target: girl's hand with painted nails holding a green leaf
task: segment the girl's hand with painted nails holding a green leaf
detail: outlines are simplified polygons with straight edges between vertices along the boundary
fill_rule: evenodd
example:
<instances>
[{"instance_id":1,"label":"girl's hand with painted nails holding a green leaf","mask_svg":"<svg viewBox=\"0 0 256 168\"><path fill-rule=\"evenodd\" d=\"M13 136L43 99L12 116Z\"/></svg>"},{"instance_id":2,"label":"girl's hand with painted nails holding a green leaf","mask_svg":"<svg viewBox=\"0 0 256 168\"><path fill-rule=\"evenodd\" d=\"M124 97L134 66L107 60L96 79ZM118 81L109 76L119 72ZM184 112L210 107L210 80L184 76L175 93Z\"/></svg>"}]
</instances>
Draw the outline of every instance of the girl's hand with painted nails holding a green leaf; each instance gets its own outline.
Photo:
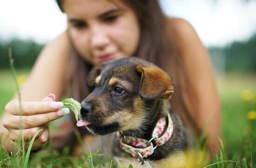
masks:
<instances>
[{"instance_id":1,"label":"girl's hand with painted nails holding a green leaf","mask_svg":"<svg viewBox=\"0 0 256 168\"><path fill-rule=\"evenodd\" d=\"M68 108L61 109L62 106L63 103L56 102L55 95L51 93L40 102L21 101L22 116L20 116L19 100L12 100L5 106L3 126L9 131L12 141L18 140L21 129L21 136L26 140L26 148L29 145L28 140L42 129L32 147L32 150L39 149L49 139L48 122L61 118L69 112Z\"/></svg>"}]
</instances>

